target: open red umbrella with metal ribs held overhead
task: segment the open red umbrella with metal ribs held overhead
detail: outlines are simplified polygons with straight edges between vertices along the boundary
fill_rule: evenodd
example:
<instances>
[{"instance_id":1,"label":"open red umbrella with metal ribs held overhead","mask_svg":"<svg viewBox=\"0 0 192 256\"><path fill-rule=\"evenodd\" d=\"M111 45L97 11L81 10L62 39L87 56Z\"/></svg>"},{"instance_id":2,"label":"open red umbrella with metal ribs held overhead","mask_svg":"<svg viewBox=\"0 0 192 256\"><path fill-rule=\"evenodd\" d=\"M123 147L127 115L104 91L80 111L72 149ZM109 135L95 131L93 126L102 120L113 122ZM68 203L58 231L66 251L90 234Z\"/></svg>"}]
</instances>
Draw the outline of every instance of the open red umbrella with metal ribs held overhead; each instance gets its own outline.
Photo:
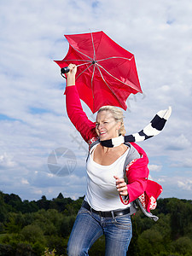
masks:
<instances>
[{"instance_id":1,"label":"open red umbrella with metal ribs held overhead","mask_svg":"<svg viewBox=\"0 0 192 256\"><path fill-rule=\"evenodd\" d=\"M61 68L78 66L76 86L80 99L95 113L105 105L126 109L125 101L141 92L134 55L104 32L65 35L66 57L55 61Z\"/></svg>"}]
</instances>

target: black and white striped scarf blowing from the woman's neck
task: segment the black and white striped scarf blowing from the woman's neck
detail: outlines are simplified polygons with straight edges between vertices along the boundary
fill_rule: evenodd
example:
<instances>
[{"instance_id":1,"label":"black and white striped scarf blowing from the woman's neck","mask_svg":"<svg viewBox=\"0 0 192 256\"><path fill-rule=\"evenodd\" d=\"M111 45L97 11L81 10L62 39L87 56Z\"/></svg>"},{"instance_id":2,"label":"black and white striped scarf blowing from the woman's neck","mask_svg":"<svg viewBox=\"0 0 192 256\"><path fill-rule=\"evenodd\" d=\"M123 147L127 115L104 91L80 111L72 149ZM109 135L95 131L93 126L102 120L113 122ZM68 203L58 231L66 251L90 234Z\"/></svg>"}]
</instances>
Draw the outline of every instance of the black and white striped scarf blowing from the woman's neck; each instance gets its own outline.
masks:
<instances>
[{"instance_id":1,"label":"black and white striped scarf blowing from the woman's neck","mask_svg":"<svg viewBox=\"0 0 192 256\"><path fill-rule=\"evenodd\" d=\"M118 147L123 143L139 143L147 140L150 137L158 135L166 125L166 121L169 119L172 113L172 108L169 107L166 110L160 110L154 116L154 119L142 130L131 135L114 137L110 140L100 141L103 147L113 148Z\"/></svg>"}]
</instances>

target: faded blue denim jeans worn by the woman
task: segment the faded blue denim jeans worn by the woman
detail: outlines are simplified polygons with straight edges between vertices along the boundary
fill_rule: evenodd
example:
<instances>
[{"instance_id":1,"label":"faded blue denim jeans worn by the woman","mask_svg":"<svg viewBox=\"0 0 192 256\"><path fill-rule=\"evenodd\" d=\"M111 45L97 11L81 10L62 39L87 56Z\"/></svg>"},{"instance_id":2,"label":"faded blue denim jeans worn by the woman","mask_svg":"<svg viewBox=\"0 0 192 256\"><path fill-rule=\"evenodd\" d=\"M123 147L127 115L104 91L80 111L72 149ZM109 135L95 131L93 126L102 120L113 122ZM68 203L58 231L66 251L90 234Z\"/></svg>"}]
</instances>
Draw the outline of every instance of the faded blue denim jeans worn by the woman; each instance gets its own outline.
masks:
<instances>
[{"instance_id":1,"label":"faded blue denim jeans worn by the woman","mask_svg":"<svg viewBox=\"0 0 192 256\"><path fill-rule=\"evenodd\" d=\"M69 237L69 256L89 255L93 243L105 235L105 256L125 256L132 237L131 216L103 218L81 207Z\"/></svg>"}]
</instances>

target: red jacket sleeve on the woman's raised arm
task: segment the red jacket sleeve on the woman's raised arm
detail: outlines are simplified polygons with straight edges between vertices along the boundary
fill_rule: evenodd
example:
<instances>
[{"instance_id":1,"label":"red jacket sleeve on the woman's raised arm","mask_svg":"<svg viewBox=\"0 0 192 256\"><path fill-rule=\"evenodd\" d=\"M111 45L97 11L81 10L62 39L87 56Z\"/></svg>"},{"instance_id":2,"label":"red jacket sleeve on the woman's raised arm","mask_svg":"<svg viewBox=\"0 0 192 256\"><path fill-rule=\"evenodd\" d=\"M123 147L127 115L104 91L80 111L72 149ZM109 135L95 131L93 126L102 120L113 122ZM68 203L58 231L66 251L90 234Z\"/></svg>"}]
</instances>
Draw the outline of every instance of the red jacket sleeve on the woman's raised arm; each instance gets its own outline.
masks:
<instances>
[{"instance_id":1,"label":"red jacket sleeve on the woman's raised arm","mask_svg":"<svg viewBox=\"0 0 192 256\"><path fill-rule=\"evenodd\" d=\"M91 138L97 137L96 123L91 122L84 113L79 99L79 93L75 85L67 86L65 95L67 115L84 138L84 141L88 143Z\"/></svg>"}]
</instances>

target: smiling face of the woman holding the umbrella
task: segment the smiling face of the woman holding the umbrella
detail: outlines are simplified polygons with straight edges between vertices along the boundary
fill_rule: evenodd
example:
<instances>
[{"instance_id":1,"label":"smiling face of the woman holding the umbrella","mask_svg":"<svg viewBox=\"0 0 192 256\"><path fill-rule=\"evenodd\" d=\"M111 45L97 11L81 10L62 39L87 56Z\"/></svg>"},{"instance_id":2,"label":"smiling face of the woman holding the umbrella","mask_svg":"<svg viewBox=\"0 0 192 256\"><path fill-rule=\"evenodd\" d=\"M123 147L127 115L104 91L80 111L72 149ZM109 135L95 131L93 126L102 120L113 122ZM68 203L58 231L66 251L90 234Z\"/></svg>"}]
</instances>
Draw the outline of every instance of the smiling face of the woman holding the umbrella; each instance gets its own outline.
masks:
<instances>
[{"instance_id":1,"label":"smiling face of the woman holding the umbrella","mask_svg":"<svg viewBox=\"0 0 192 256\"><path fill-rule=\"evenodd\" d=\"M119 137L120 123L117 123L110 111L102 111L96 116L96 133L101 141Z\"/></svg>"}]
</instances>

